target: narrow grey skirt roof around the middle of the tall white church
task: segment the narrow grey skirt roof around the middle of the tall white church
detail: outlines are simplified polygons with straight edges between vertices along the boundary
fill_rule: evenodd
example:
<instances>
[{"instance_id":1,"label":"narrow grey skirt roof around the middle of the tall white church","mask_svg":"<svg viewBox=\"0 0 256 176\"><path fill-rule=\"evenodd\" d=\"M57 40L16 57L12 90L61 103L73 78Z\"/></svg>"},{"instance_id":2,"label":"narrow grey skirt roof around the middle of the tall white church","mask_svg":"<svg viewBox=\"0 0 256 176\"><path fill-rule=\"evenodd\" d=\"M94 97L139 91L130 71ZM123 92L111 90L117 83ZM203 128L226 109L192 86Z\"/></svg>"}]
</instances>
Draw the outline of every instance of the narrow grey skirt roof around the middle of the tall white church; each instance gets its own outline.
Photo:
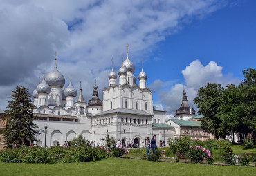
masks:
<instances>
[{"instance_id":1,"label":"narrow grey skirt roof around the middle of the tall white church","mask_svg":"<svg viewBox=\"0 0 256 176\"><path fill-rule=\"evenodd\" d=\"M127 109L127 108L117 108L117 109L112 109L112 110L107 110L102 113L98 113L96 115L91 115L93 117L98 116L98 115L107 115L111 113L126 113L126 114L133 114L133 115L148 115L152 116L152 114L147 113L144 110L135 110L135 109Z\"/></svg>"}]
</instances>

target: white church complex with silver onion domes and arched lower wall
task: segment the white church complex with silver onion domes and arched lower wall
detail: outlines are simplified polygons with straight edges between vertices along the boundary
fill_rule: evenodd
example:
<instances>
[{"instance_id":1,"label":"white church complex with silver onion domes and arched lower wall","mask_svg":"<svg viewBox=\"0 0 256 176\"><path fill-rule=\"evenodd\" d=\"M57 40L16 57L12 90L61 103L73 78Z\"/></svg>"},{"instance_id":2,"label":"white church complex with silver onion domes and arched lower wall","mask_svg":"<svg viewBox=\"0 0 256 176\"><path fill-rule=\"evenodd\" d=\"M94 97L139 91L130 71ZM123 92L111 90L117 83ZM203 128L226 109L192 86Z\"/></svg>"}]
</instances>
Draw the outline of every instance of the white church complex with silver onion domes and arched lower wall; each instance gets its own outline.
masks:
<instances>
[{"instance_id":1,"label":"white church complex with silver onion domes and arched lower wall","mask_svg":"<svg viewBox=\"0 0 256 176\"><path fill-rule=\"evenodd\" d=\"M70 84L64 88L65 78L57 69L56 57L53 70L44 77L33 91L33 113L39 126L38 146L54 146L82 135L87 140L100 142L107 134L122 145L145 146L145 139L156 135L159 142L174 137L175 130L165 123L165 111L154 110L152 90L147 88L147 75L143 68L134 76L134 63L128 57L122 62L118 75L109 73L109 86L103 90L103 101L98 97L98 86L86 103L82 87L77 90ZM107 77L107 75L106 75ZM167 144L167 142L165 142Z\"/></svg>"}]
</instances>

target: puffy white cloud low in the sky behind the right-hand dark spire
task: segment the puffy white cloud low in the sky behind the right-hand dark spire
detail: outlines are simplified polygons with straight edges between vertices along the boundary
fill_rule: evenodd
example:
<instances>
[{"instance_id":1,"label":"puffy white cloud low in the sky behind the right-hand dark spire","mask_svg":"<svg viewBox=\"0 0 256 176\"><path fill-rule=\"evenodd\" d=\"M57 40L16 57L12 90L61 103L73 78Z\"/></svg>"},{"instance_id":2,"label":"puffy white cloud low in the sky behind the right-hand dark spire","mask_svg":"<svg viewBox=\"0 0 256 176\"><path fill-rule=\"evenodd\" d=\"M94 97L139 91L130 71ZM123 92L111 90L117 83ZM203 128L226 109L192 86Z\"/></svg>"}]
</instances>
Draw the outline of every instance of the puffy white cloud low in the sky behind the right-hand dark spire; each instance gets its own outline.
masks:
<instances>
[{"instance_id":1,"label":"puffy white cloud low in the sky behind the right-hand dark spire","mask_svg":"<svg viewBox=\"0 0 256 176\"><path fill-rule=\"evenodd\" d=\"M197 96L197 90L201 86L206 86L208 82L221 84L225 87L227 84L238 85L241 80L233 78L232 75L223 75L222 66L214 61L210 61L208 65L203 66L201 61L195 60L190 63L184 70L181 71L184 79L185 85L175 84L170 88L170 90L160 90L159 99L161 103L165 106L167 113L175 115L175 111L181 106L182 92L185 88L188 96L188 104L197 111L194 104L194 97Z\"/></svg>"}]
</instances>

